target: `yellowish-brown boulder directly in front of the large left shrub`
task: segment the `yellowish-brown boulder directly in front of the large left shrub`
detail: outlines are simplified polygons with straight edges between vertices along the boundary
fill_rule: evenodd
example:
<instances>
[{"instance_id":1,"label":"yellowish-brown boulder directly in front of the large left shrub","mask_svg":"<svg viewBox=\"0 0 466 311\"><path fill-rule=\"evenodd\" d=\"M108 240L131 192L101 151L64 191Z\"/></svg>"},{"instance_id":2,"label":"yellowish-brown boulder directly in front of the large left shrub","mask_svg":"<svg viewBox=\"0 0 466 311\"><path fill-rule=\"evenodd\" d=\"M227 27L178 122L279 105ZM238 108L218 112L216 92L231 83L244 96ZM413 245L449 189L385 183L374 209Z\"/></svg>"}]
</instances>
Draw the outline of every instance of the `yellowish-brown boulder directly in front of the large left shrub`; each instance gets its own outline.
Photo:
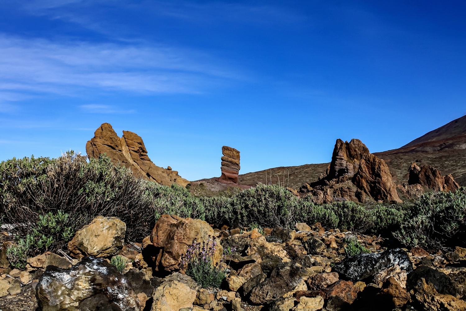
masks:
<instances>
[{"instance_id":1,"label":"yellowish-brown boulder directly in front of the large left shrub","mask_svg":"<svg viewBox=\"0 0 466 311\"><path fill-rule=\"evenodd\" d=\"M123 248L126 224L116 217L97 216L68 242L68 249L76 258L107 257Z\"/></svg>"}]
</instances>

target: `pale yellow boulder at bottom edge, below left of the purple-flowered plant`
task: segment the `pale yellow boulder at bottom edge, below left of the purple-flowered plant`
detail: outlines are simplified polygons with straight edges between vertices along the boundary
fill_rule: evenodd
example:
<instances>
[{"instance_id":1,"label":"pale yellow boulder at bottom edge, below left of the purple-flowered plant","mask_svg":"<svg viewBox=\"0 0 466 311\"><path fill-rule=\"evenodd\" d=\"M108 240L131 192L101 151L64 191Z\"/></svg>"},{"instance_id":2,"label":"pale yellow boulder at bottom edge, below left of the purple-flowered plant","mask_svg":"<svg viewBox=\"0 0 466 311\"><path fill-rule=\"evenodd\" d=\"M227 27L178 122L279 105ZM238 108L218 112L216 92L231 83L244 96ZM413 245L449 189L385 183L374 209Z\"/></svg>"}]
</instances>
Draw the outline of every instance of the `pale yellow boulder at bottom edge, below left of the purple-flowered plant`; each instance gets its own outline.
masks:
<instances>
[{"instance_id":1,"label":"pale yellow boulder at bottom edge, below left of the purple-flowered plant","mask_svg":"<svg viewBox=\"0 0 466 311\"><path fill-rule=\"evenodd\" d=\"M191 277L175 272L164 278L152 295L152 311L179 311L191 308L199 285Z\"/></svg>"}]
</instances>

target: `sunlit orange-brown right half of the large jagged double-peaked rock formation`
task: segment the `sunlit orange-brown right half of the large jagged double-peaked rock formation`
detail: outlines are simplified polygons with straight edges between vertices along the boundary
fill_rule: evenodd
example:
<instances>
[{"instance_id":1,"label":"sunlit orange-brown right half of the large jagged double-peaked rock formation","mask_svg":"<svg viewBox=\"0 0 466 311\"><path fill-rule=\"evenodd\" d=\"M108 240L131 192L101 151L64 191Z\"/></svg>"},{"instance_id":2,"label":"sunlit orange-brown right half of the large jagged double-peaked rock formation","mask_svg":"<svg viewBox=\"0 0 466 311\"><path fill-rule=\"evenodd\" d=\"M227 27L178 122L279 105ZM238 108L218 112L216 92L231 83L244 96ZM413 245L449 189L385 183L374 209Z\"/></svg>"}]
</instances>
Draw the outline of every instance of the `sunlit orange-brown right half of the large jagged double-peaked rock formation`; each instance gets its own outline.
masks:
<instances>
[{"instance_id":1,"label":"sunlit orange-brown right half of the large jagged double-peaked rock formation","mask_svg":"<svg viewBox=\"0 0 466 311\"><path fill-rule=\"evenodd\" d=\"M353 177L353 183L369 194L374 200L394 200L402 202L397 188L391 180L391 174L385 161L377 156L363 154L359 161L359 169Z\"/></svg>"}]
</instances>

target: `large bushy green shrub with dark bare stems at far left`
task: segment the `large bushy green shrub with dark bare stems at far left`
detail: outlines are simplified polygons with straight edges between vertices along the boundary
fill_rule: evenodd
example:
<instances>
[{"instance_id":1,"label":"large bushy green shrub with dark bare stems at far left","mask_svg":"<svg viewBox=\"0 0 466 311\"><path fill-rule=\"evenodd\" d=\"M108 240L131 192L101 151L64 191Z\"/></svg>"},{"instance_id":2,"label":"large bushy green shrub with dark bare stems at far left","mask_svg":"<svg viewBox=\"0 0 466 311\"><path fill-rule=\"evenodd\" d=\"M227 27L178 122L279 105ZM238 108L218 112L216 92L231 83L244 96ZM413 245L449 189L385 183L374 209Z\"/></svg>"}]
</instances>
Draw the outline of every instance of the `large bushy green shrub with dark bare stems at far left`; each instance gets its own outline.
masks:
<instances>
[{"instance_id":1,"label":"large bushy green shrub with dark bare stems at far left","mask_svg":"<svg viewBox=\"0 0 466 311\"><path fill-rule=\"evenodd\" d=\"M39 244L51 251L63 248L97 215L117 216L129 239L142 239L156 221L147 210L154 209L152 184L104 155L89 162L74 152L57 159L11 159L0 162L0 216L17 224L14 235L37 240L44 235Z\"/></svg>"}]
</instances>

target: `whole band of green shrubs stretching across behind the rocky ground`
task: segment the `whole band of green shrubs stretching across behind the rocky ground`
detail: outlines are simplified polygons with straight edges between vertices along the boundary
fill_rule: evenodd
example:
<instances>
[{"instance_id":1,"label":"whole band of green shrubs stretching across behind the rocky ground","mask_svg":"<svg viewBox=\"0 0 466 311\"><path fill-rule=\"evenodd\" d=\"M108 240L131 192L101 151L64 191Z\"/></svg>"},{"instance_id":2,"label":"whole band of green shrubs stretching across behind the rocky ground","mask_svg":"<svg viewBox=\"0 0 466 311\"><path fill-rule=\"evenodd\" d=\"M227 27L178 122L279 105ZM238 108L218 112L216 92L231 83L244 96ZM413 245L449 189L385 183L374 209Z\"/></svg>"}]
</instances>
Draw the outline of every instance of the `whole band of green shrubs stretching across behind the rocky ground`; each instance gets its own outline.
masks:
<instances>
[{"instance_id":1,"label":"whole band of green shrubs stretching across behind the rocky ground","mask_svg":"<svg viewBox=\"0 0 466 311\"><path fill-rule=\"evenodd\" d=\"M97 215L124 221L129 240L149 235L161 214L177 214L217 224L238 219L250 228L294 228L296 222L318 221L325 228L395 232L405 244L438 247L464 243L465 192L425 194L411 208L350 201L317 205L284 187L263 184L231 197L196 197L178 185L136 178L105 155L87 159L71 151L56 159L0 162L0 221L13 225L14 242L31 239L29 255L64 248ZM12 249L11 256L20 258L24 251Z\"/></svg>"}]
</instances>

